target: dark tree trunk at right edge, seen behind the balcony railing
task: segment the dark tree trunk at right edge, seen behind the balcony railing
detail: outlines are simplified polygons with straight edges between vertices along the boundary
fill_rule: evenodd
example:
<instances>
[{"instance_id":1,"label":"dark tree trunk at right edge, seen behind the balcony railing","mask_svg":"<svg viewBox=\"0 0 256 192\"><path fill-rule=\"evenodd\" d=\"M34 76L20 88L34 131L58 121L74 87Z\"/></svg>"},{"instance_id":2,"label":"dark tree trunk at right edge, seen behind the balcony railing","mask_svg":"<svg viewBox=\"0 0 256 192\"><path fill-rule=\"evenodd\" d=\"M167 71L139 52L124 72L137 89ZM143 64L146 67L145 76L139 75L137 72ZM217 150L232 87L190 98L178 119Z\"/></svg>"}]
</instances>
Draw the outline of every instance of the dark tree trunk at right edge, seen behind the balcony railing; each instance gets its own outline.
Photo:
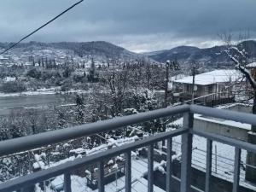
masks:
<instances>
[{"instance_id":1,"label":"dark tree trunk at right edge, seen behind the balcony railing","mask_svg":"<svg viewBox=\"0 0 256 192\"><path fill-rule=\"evenodd\" d=\"M253 114L256 114L256 90L254 90L253 98ZM248 132L248 143L256 144L256 126L252 125L252 129ZM256 167L256 154L247 152L247 165ZM246 180L256 183L256 169L254 167L246 167Z\"/></svg>"}]
</instances>

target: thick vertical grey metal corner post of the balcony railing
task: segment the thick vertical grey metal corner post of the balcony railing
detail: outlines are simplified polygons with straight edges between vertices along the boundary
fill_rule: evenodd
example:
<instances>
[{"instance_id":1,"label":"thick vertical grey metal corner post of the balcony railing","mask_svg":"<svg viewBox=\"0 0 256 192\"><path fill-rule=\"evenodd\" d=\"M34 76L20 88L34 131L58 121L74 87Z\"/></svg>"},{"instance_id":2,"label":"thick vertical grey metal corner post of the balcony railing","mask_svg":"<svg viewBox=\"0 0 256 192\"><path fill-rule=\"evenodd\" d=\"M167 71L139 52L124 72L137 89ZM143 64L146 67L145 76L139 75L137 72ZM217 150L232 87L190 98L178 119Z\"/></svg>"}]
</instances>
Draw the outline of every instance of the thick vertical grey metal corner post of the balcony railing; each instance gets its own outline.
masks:
<instances>
[{"instance_id":1,"label":"thick vertical grey metal corner post of the balcony railing","mask_svg":"<svg viewBox=\"0 0 256 192\"><path fill-rule=\"evenodd\" d=\"M193 129L194 113L183 114L183 127ZM181 192L190 191L190 177L191 177L191 160L192 160L192 140L191 133L184 133L182 135L182 165L181 165Z\"/></svg>"}]
</instances>

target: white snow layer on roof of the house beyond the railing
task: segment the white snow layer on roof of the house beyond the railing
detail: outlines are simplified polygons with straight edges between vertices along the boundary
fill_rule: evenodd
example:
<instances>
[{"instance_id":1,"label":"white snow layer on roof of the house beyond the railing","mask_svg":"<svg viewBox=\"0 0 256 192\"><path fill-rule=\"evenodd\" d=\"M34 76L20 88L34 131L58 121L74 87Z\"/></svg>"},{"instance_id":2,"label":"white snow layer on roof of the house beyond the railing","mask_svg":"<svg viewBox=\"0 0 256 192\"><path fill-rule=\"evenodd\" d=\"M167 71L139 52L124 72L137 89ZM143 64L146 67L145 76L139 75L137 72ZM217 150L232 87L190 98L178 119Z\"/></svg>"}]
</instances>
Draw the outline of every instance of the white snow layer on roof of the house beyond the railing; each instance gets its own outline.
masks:
<instances>
[{"instance_id":1,"label":"white snow layer on roof of the house beyond the railing","mask_svg":"<svg viewBox=\"0 0 256 192\"><path fill-rule=\"evenodd\" d=\"M201 73L195 75L195 84L207 85L207 84L216 84L216 83L225 83L225 82L234 82L237 79L241 78L241 73L236 70L214 70L212 72ZM183 79L175 80L176 83L182 84L192 84L193 76L188 76Z\"/></svg>"}]
</instances>

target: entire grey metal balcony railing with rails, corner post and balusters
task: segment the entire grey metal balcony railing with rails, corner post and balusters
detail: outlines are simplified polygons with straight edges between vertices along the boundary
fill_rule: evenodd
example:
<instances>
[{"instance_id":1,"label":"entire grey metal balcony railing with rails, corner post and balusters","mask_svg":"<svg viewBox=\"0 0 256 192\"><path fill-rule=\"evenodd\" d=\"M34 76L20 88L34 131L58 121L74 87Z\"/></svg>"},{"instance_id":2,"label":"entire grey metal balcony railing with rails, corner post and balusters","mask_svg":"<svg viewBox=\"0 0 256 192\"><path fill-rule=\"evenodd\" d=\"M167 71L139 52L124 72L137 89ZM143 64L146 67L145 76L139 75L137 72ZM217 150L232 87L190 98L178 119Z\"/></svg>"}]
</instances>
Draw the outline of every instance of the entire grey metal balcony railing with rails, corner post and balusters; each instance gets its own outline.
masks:
<instances>
[{"instance_id":1,"label":"entire grey metal balcony railing with rails, corner post and balusters","mask_svg":"<svg viewBox=\"0 0 256 192\"><path fill-rule=\"evenodd\" d=\"M154 143L167 140L166 151L166 191L173 191L172 183L172 137L182 135L182 160L181 160L181 177L180 191L191 191L191 158L192 158L192 137L198 135L207 138L207 169L205 191L209 192L211 175L212 175L212 141L226 143L236 148L233 191L239 191L241 149L256 154L256 146L250 143L241 142L239 140L223 137L216 134L203 131L193 130L194 113L199 113L209 117L220 119L229 119L250 125L256 125L256 118L253 114L237 113L217 108L206 108L195 105L183 105L173 108L165 108L147 113L138 113L135 115L108 119L88 125L79 125L58 131L44 132L38 135L20 137L12 140L0 142L0 156L15 154L21 151L30 150L47 146L49 144L61 143L77 137L85 137L94 135L104 131L116 130L127 125L134 125L152 119L164 118L183 113L183 128L175 131L163 132L152 137L146 137L134 143L125 144L116 148L110 148L106 151L84 156L82 158L68 161L59 166L50 167L48 169L34 172L32 174L17 177L15 179L0 183L0 191L8 192L26 189L35 183L44 182L50 178L64 174L64 191L71 192L71 172L84 165L90 165L97 162L98 166L98 189L104 191L104 160L125 154L125 191L131 192L131 151L136 148L148 148L148 192L154 191ZM201 190L199 190L201 191Z\"/></svg>"}]
</instances>

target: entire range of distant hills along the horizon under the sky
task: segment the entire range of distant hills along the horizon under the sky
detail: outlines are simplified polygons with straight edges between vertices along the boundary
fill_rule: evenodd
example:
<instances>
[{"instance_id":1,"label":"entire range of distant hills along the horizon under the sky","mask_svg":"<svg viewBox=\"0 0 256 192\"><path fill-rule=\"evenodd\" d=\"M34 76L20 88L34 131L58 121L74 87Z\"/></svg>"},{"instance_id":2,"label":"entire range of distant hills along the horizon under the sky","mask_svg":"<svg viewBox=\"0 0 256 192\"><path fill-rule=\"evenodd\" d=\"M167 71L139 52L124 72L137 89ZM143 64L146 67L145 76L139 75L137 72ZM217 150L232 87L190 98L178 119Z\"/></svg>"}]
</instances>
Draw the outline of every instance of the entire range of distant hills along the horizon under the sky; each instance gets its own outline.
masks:
<instances>
[{"instance_id":1,"label":"entire range of distant hills along the horizon under the sky","mask_svg":"<svg viewBox=\"0 0 256 192\"><path fill-rule=\"evenodd\" d=\"M6 49L13 43L0 43L0 49ZM246 44L249 50L249 58L252 61L256 61L256 41L242 42L238 46L244 46ZM93 41L84 43L74 42L61 42L61 43L39 43L29 42L19 44L15 49L11 49L9 54L12 53L22 55L24 52L37 51L42 49L55 49L64 50L67 55L95 55L100 58L111 59L123 59L123 60L136 60L138 58L148 57L154 61L166 62L181 61L184 64L190 64L193 61L202 62L209 67L222 67L234 65L233 61L224 53L226 47L215 46L207 49L200 49L192 46L179 46L173 49L158 50L154 52L148 52L143 54L137 54L127 49L119 47L114 44L110 44L104 41Z\"/></svg>"}]
</instances>

